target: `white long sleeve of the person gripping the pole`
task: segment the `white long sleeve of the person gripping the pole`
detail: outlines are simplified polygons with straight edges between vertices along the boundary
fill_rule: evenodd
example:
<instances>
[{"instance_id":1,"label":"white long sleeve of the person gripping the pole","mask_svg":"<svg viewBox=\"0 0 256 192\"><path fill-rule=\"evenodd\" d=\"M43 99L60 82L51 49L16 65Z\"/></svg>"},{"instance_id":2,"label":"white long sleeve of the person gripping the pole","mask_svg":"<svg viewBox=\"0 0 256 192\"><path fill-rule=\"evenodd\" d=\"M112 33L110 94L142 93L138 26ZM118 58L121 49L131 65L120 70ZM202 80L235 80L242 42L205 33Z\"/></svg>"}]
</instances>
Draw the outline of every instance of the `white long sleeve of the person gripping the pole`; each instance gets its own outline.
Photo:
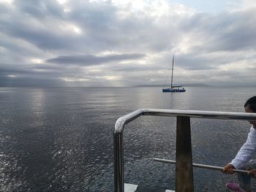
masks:
<instances>
[{"instance_id":1,"label":"white long sleeve of the person gripping the pole","mask_svg":"<svg viewBox=\"0 0 256 192\"><path fill-rule=\"evenodd\" d=\"M248 161L252 159L252 156L256 153L256 129L253 126L250 128L248 137L244 145L236 154L230 164L235 166L236 169L242 168Z\"/></svg>"}]
</instances>

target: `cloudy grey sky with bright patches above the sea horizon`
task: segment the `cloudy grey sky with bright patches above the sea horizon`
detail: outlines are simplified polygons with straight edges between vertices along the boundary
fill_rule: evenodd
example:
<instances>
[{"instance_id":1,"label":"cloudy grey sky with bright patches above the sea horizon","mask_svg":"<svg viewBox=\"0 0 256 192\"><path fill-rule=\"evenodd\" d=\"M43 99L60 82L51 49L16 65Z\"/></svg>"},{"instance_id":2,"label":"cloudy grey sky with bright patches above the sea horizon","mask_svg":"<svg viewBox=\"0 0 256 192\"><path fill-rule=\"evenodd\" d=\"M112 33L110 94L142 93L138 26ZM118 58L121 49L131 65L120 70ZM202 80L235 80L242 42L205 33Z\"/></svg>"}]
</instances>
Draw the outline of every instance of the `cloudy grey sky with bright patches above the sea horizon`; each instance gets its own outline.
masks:
<instances>
[{"instance_id":1,"label":"cloudy grey sky with bright patches above the sea horizon","mask_svg":"<svg viewBox=\"0 0 256 192\"><path fill-rule=\"evenodd\" d=\"M0 0L0 86L256 86L256 1Z\"/></svg>"}]
</instances>

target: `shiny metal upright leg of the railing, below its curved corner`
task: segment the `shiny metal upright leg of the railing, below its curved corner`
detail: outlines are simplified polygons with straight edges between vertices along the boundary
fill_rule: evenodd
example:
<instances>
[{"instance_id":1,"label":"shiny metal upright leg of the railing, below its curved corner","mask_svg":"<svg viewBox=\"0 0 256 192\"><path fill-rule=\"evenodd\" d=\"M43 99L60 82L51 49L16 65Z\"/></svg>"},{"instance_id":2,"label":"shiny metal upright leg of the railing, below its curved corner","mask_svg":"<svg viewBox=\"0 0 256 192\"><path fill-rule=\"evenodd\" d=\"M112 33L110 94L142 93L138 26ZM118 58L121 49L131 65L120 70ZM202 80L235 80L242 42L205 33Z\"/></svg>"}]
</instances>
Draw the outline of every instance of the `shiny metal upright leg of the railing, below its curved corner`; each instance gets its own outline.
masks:
<instances>
[{"instance_id":1,"label":"shiny metal upright leg of the railing, below its curved corner","mask_svg":"<svg viewBox=\"0 0 256 192\"><path fill-rule=\"evenodd\" d=\"M123 131L114 131L114 191L124 192Z\"/></svg>"}]
</instances>

